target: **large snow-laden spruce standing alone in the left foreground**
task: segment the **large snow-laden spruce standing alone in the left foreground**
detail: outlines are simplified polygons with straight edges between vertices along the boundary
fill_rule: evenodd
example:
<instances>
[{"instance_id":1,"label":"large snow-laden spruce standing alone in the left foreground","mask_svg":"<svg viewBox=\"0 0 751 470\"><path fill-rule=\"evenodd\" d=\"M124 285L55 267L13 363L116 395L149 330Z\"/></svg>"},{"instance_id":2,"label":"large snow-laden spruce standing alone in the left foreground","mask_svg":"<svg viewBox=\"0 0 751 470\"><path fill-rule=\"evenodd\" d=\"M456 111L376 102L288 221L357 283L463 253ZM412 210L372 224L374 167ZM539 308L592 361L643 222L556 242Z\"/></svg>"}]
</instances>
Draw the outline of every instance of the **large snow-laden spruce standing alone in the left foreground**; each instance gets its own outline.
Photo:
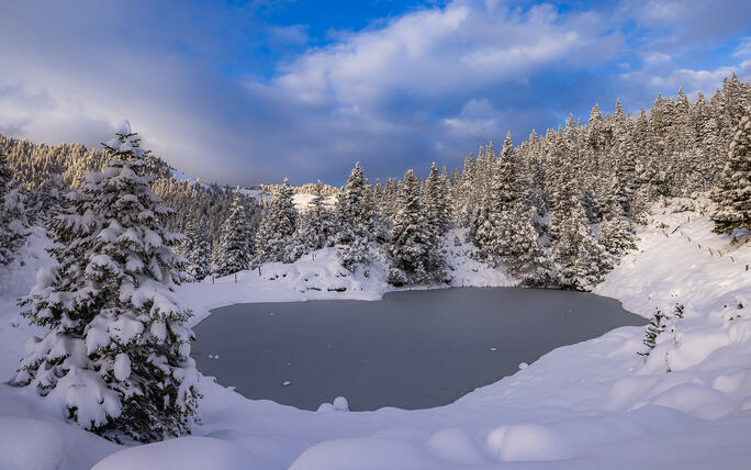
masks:
<instances>
[{"instance_id":1,"label":"large snow-laden spruce standing alone in the left foreground","mask_svg":"<svg viewBox=\"0 0 751 470\"><path fill-rule=\"evenodd\" d=\"M21 302L49 329L27 342L12 382L110 439L158 440L190 430L199 399L191 311L173 292L181 235L161 224L170 209L143 175L146 152L127 121L104 147L109 166L86 175L51 222L57 262Z\"/></svg>"}]
</instances>

